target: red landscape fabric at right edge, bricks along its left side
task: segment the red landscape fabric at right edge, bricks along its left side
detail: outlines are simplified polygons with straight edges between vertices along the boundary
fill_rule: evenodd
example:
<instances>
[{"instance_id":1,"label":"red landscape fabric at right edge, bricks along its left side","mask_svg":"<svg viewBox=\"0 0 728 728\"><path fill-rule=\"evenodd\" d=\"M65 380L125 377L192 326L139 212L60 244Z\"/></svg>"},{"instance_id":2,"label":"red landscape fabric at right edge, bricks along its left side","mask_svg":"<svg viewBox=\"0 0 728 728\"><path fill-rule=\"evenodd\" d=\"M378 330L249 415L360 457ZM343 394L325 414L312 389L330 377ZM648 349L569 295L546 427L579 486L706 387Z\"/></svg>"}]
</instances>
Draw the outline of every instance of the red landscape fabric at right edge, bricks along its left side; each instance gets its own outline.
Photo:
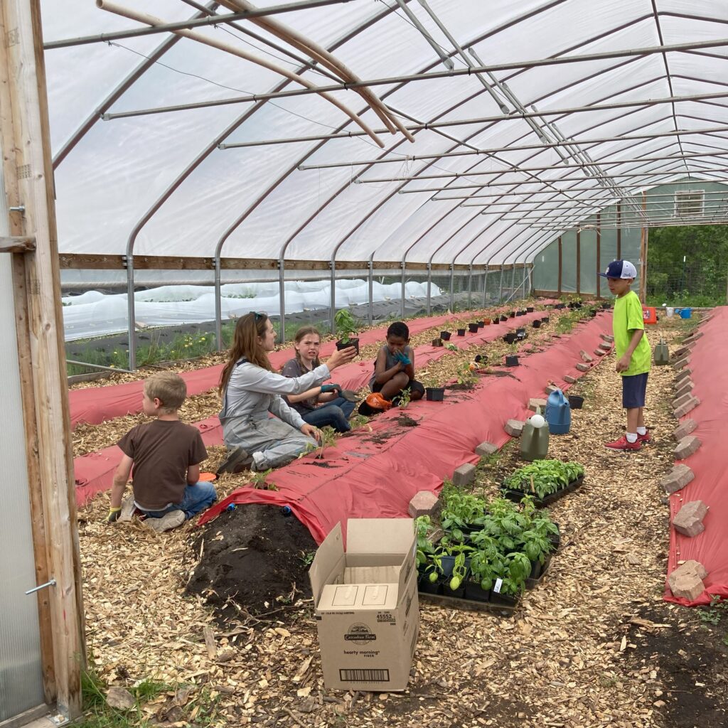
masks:
<instances>
[{"instance_id":1,"label":"red landscape fabric at right edge, bricks along its left side","mask_svg":"<svg viewBox=\"0 0 728 728\"><path fill-rule=\"evenodd\" d=\"M728 308L713 309L713 318L700 325L703 336L690 354L689 367L695 384L692 394L700 405L682 419L694 419L696 435L703 443L684 463L695 473L695 480L670 496L670 523L678 510L690 501L700 500L708 506L703 519L705 531L694 537L679 534L670 526L668 574L681 561L700 561L708 571L703 579L705 591L695 600L673 597L665 583L665 599L685 606L709 604L711 595L728 598Z\"/></svg>"}]
</instances>

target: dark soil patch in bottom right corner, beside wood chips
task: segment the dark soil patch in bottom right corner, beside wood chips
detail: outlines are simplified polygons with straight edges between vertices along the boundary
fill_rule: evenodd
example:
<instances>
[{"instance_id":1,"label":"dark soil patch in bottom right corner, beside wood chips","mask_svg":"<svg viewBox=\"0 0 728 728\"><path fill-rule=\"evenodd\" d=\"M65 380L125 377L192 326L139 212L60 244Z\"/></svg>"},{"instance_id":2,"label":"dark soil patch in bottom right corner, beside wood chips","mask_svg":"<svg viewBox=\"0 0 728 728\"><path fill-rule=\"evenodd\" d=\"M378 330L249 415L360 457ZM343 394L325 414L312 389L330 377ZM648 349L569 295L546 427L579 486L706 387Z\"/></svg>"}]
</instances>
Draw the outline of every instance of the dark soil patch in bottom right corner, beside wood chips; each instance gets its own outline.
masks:
<instances>
[{"instance_id":1,"label":"dark soil patch in bottom right corner, beside wood chips","mask_svg":"<svg viewBox=\"0 0 728 728\"><path fill-rule=\"evenodd\" d=\"M676 616L684 621L677 623ZM630 625L628 640L636 649L625 652L625 668L657 670L665 705L655 706L669 728L725 728L728 724L728 649L723 638L728 614L719 625L703 624L699 613L666 604L640 614L645 620L669 628L646 629ZM647 686L654 690L654 687Z\"/></svg>"}]
</instances>

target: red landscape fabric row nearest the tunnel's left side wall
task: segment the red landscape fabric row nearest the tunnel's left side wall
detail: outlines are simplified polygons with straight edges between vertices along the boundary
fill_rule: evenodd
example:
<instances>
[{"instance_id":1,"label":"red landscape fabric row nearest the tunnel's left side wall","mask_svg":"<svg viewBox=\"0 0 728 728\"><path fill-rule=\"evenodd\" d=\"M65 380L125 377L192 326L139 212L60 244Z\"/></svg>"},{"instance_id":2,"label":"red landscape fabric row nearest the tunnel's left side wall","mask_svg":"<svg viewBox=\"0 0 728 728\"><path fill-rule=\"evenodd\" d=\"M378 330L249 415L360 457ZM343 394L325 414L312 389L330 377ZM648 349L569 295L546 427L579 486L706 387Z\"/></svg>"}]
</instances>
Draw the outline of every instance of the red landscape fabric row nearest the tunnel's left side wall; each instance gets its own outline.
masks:
<instances>
[{"instance_id":1,"label":"red landscape fabric row nearest the tunnel's left side wall","mask_svg":"<svg viewBox=\"0 0 728 728\"><path fill-rule=\"evenodd\" d=\"M545 304L550 301L540 301ZM494 310L494 309L488 309ZM500 307L498 310L505 310ZM477 315L476 312L470 312ZM530 314L534 316L535 314ZM543 314L541 314L543 315ZM442 316L431 316L412 320L408 323L411 336L425 331L433 326L445 326L453 321L453 314ZM523 321L525 317L518 317ZM370 329L360 334L360 346L374 344L376 341L384 341L384 334L387 326ZM321 355L328 357L333 353L334 342L327 341L321 347ZM272 352L270 360L274 367L280 368L293 356L293 347L282 349L280 352ZM187 383L187 394L189 396L199 395L218 386L223 365L206 367L195 371L181 373ZM339 384L343 384L339 382ZM347 386L347 385L344 385ZM360 385L361 386L361 385ZM114 417L122 417L127 414L141 412L141 395L144 387L143 380L130 381L127 384L115 384L111 387L86 387L84 389L72 389L68 392L69 406L71 408L71 428L75 429L79 422L99 424Z\"/></svg>"}]
</instances>

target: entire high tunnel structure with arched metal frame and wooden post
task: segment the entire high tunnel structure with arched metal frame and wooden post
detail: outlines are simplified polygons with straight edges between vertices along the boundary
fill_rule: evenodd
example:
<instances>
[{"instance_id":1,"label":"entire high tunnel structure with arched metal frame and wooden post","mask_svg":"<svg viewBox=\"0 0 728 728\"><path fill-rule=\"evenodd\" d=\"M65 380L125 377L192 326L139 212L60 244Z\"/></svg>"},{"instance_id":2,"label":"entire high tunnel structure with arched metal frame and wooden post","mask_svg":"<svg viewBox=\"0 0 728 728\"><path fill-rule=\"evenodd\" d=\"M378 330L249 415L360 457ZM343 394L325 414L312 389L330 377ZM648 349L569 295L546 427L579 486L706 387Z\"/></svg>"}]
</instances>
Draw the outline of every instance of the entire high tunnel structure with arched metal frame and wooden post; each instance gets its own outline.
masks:
<instances>
[{"instance_id":1,"label":"entire high tunnel structure with arched metal frame and wooden post","mask_svg":"<svg viewBox=\"0 0 728 728\"><path fill-rule=\"evenodd\" d=\"M6 0L0 23L0 443L36 514L19 488L0 575L54 582L0 598L0 668L24 640L41 674L0 669L0 723L79 707L62 284L125 291L135 368L152 285L210 287L218 333L240 281L276 284L280 317L306 280L332 314L362 280L370 320L374 277L403 311L412 281L428 309L435 285L598 295L613 258L644 282L650 227L726 221L718 0Z\"/></svg>"}]
</instances>

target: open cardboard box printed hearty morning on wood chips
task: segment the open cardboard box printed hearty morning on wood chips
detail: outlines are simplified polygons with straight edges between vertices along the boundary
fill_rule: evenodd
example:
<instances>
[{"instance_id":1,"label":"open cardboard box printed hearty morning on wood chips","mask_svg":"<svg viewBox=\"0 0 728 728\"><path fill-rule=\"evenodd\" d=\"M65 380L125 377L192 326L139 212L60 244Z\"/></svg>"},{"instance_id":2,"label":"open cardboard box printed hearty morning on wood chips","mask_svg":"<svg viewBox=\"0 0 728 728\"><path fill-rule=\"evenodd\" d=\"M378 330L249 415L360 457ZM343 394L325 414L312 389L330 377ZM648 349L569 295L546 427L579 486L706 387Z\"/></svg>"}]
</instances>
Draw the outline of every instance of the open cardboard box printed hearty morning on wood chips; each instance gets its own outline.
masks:
<instances>
[{"instance_id":1,"label":"open cardboard box printed hearty morning on wood chips","mask_svg":"<svg viewBox=\"0 0 728 728\"><path fill-rule=\"evenodd\" d=\"M416 537L411 518L350 518L347 550L337 523L309 577L324 684L404 690L419 633Z\"/></svg>"}]
</instances>

